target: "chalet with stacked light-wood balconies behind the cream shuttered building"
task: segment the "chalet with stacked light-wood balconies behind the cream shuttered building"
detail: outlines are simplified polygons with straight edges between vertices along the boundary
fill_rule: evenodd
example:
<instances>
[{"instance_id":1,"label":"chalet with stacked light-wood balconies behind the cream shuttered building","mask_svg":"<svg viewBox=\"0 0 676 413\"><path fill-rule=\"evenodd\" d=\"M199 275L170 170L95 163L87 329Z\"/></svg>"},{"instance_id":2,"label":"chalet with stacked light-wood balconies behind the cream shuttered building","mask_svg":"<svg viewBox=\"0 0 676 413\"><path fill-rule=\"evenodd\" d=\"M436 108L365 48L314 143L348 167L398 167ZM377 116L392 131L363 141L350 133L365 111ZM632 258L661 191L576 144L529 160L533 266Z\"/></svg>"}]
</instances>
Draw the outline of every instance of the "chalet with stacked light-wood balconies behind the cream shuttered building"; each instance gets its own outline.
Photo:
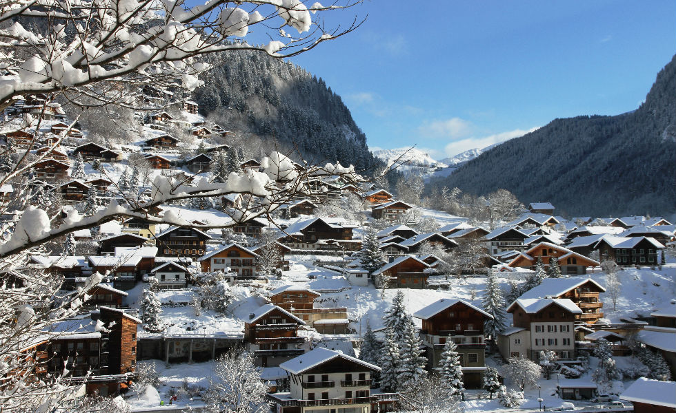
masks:
<instances>
[{"instance_id":1,"label":"chalet with stacked light-wood balconies behind the cream shuttered building","mask_svg":"<svg viewBox=\"0 0 676 413\"><path fill-rule=\"evenodd\" d=\"M605 291L606 288L591 278L545 278L539 286L526 291L519 298L570 299L581 310L581 313L578 313L575 319L583 323L594 324L604 317L604 313L602 313L604 304L599 300L599 294Z\"/></svg>"}]
</instances>

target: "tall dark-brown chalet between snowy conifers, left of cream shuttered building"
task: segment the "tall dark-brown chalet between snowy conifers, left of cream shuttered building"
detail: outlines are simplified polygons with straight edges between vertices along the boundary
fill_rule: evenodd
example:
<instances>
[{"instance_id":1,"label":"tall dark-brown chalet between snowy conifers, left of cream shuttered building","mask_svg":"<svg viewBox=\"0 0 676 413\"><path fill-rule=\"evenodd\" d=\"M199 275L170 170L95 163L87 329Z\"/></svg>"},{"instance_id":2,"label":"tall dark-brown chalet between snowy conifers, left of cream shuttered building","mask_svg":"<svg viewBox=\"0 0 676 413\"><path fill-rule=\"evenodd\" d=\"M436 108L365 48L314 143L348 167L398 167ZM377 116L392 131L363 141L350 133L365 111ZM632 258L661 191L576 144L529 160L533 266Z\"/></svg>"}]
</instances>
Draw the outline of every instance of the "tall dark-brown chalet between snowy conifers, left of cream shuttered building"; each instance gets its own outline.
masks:
<instances>
[{"instance_id":1,"label":"tall dark-brown chalet between snowy conifers, left of cream shuttered building","mask_svg":"<svg viewBox=\"0 0 676 413\"><path fill-rule=\"evenodd\" d=\"M486 371L484 323L493 316L461 299L440 299L413 314L422 321L428 370L439 368L446 341L453 341L460 356L464 385L480 389Z\"/></svg>"}]
</instances>

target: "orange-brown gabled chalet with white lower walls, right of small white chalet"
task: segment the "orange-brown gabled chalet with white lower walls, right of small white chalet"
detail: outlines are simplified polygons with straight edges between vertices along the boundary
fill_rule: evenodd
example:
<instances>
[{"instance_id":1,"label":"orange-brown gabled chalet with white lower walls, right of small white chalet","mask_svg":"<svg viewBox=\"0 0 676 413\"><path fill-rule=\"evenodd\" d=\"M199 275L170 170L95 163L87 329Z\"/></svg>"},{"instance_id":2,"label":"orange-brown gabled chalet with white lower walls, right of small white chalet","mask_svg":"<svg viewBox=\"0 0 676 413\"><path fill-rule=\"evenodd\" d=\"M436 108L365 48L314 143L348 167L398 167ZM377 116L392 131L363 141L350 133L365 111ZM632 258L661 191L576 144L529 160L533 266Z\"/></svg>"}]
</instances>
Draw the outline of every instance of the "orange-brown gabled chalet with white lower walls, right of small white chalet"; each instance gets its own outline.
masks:
<instances>
[{"instance_id":1,"label":"orange-brown gabled chalet with white lower walls, right of small white chalet","mask_svg":"<svg viewBox=\"0 0 676 413\"><path fill-rule=\"evenodd\" d=\"M237 273L239 279L252 279L257 276L256 267L259 255L238 244L221 246L214 251L199 257L200 268L203 273L223 271Z\"/></svg>"}]
</instances>

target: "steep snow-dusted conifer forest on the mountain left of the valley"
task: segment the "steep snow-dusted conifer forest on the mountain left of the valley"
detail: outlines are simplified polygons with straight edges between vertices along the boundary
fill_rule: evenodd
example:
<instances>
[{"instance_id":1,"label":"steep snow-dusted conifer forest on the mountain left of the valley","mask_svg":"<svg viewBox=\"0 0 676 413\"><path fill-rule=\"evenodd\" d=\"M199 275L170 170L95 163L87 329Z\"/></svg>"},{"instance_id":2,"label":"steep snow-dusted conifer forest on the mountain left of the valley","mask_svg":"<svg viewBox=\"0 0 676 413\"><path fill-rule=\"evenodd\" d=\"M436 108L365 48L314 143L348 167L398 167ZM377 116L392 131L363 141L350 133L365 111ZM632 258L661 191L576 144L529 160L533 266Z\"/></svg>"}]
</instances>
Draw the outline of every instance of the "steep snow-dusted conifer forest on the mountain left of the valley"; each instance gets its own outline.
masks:
<instances>
[{"instance_id":1,"label":"steep snow-dusted conifer forest on the mountain left of the valley","mask_svg":"<svg viewBox=\"0 0 676 413\"><path fill-rule=\"evenodd\" d=\"M212 69L195 92L201 114L244 134L276 140L316 162L355 165L372 175L366 136L340 96L302 67L250 51L207 56Z\"/></svg>"}]
</instances>

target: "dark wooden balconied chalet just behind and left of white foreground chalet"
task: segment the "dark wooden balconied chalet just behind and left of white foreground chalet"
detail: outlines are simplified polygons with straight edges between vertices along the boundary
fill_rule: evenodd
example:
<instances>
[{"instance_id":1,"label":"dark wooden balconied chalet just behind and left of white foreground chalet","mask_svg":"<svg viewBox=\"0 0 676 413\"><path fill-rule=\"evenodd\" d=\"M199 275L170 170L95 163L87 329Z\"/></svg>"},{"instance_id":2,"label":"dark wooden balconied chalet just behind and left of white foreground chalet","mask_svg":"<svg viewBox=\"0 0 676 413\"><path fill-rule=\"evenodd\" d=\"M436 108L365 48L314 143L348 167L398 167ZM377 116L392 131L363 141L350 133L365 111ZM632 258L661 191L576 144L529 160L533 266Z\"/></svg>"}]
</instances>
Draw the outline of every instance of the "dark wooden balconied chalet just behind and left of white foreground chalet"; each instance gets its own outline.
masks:
<instances>
[{"instance_id":1,"label":"dark wooden balconied chalet just behind and left of white foreground chalet","mask_svg":"<svg viewBox=\"0 0 676 413\"><path fill-rule=\"evenodd\" d=\"M244 341L256 358L256 365L275 367L304 353L305 342L298 328L305 321L275 304L261 306L244 321Z\"/></svg>"}]
</instances>

